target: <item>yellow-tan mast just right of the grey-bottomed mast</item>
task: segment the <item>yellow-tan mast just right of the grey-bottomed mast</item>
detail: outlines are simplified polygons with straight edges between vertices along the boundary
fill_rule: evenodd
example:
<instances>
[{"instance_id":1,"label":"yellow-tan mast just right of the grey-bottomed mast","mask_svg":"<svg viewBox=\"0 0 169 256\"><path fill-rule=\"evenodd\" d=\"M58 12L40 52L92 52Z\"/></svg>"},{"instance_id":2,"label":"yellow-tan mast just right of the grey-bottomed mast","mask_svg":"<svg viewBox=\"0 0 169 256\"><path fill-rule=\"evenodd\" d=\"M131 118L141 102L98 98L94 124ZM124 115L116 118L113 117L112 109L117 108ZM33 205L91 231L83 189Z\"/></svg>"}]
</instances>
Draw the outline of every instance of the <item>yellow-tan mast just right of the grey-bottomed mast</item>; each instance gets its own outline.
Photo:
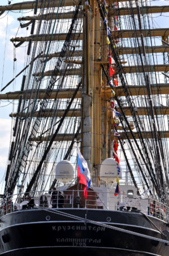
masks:
<instances>
[{"instance_id":1,"label":"yellow-tan mast just right of the grey-bottomed mast","mask_svg":"<svg viewBox=\"0 0 169 256\"><path fill-rule=\"evenodd\" d=\"M98 60L101 58L100 13L96 1L92 1L92 44L91 78L92 78L92 166L95 186L98 186L101 164L101 69Z\"/></svg>"}]
</instances>

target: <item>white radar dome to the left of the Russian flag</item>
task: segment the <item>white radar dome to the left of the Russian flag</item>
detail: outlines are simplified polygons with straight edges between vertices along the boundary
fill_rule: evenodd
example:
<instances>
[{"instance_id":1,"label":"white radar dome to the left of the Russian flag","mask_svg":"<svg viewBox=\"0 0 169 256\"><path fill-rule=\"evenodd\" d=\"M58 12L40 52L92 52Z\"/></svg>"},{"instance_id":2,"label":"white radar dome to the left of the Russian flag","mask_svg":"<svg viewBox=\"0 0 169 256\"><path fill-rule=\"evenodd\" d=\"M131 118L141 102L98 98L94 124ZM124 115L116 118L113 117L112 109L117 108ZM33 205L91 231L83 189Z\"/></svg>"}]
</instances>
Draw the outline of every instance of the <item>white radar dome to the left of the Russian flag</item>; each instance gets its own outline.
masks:
<instances>
[{"instance_id":1,"label":"white radar dome to the left of the Russian flag","mask_svg":"<svg viewBox=\"0 0 169 256\"><path fill-rule=\"evenodd\" d=\"M62 160L56 165L55 178L64 184L72 181L74 178L73 164L68 160Z\"/></svg>"}]
</instances>

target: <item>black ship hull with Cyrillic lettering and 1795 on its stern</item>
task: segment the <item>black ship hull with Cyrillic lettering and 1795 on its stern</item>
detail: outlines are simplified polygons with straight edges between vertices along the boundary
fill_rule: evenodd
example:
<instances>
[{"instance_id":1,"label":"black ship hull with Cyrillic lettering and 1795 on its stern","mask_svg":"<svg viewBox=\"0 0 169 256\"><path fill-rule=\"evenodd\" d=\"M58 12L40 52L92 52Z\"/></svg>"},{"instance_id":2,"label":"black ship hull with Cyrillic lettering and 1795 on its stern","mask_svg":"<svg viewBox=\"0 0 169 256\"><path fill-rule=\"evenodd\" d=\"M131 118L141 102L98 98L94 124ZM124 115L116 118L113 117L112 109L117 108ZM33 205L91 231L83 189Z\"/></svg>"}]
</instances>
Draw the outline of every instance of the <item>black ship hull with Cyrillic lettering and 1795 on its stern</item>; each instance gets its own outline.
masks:
<instances>
[{"instance_id":1,"label":"black ship hull with Cyrillic lettering and 1795 on its stern","mask_svg":"<svg viewBox=\"0 0 169 256\"><path fill-rule=\"evenodd\" d=\"M0 255L166 256L169 246L161 240L167 240L167 224L149 219L136 212L86 209L13 212L1 219Z\"/></svg>"}]
</instances>

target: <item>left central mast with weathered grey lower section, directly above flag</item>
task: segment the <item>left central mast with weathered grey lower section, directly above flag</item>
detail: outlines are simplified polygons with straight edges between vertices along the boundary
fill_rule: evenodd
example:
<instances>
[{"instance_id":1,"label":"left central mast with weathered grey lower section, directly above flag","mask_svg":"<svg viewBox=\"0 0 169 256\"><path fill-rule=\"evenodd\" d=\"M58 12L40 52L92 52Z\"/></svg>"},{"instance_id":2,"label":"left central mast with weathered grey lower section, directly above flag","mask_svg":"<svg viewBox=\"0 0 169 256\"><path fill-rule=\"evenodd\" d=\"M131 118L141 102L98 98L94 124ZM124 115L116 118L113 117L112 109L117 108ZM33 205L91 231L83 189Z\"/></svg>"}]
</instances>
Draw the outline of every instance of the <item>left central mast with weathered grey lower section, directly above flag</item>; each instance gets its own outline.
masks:
<instances>
[{"instance_id":1,"label":"left central mast with weathered grey lower section, directly above flag","mask_svg":"<svg viewBox=\"0 0 169 256\"><path fill-rule=\"evenodd\" d=\"M90 91L90 18L91 10L88 1L83 2L83 56L82 56L82 143L81 151L91 171L91 91Z\"/></svg>"}]
</instances>

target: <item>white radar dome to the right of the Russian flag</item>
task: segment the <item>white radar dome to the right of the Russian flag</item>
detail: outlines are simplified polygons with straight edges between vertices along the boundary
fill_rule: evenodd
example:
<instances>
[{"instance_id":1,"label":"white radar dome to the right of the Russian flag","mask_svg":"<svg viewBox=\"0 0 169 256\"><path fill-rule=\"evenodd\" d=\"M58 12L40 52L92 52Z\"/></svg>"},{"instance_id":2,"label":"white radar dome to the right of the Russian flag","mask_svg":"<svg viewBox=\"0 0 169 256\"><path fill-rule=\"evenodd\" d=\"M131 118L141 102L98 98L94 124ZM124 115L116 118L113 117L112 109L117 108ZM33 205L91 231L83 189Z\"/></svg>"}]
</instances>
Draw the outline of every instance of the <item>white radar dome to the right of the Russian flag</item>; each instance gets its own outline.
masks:
<instances>
[{"instance_id":1,"label":"white radar dome to the right of the Russian flag","mask_svg":"<svg viewBox=\"0 0 169 256\"><path fill-rule=\"evenodd\" d=\"M100 167L100 179L105 182L115 182L117 178L122 178L122 168L121 166L113 159L107 158L101 163Z\"/></svg>"}]
</instances>

